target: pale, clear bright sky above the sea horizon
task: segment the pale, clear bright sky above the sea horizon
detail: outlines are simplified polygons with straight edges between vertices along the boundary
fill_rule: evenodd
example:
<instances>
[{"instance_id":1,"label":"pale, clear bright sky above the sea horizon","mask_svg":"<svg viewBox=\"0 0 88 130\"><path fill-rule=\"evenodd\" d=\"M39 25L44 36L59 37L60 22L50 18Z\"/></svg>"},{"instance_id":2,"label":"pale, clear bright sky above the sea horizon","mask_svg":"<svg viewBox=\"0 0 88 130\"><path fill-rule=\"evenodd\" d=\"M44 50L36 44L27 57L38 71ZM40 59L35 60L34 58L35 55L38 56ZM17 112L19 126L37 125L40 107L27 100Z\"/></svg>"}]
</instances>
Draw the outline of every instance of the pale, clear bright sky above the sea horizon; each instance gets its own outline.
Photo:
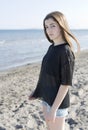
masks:
<instances>
[{"instance_id":1,"label":"pale, clear bright sky above the sea horizon","mask_svg":"<svg viewBox=\"0 0 88 130\"><path fill-rule=\"evenodd\" d=\"M52 11L64 13L71 29L88 29L88 0L0 0L0 29L42 29Z\"/></svg>"}]
</instances>

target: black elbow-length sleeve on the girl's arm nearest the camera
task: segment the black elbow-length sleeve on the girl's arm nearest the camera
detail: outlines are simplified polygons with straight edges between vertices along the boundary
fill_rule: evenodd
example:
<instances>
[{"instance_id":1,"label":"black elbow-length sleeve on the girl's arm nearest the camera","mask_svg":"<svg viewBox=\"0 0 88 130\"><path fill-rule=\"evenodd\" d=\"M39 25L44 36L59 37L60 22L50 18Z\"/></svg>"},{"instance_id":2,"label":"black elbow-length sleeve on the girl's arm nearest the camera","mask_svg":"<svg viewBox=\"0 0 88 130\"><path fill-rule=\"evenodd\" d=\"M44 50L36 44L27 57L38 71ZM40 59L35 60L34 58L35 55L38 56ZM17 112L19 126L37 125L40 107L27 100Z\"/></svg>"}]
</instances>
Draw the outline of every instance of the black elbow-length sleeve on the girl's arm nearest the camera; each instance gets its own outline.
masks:
<instances>
[{"instance_id":1,"label":"black elbow-length sleeve on the girl's arm nearest the camera","mask_svg":"<svg viewBox=\"0 0 88 130\"><path fill-rule=\"evenodd\" d=\"M64 52L60 58L60 80L62 85L72 86L72 77L74 71L74 56L73 54Z\"/></svg>"}]
</instances>

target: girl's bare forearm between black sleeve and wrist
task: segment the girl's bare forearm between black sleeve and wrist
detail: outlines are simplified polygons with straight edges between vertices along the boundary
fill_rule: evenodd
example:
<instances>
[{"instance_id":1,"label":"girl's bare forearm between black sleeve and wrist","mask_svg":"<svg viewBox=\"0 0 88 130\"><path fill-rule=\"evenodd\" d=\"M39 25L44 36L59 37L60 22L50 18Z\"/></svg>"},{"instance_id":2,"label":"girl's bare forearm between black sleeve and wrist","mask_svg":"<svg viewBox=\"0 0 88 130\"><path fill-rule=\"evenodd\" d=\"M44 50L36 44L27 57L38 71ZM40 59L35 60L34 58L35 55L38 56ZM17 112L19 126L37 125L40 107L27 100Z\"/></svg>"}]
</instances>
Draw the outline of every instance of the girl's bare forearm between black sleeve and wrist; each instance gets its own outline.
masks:
<instances>
[{"instance_id":1,"label":"girl's bare forearm between black sleeve and wrist","mask_svg":"<svg viewBox=\"0 0 88 130\"><path fill-rule=\"evenodd\" d=\"M59 108L60 104L62 103L64 97L66 96L68 92L68 88L69 88L69 85L60 85L57 96L52 105L51 111L57 111L57 109Z\"/></svg>"}]
</instances>

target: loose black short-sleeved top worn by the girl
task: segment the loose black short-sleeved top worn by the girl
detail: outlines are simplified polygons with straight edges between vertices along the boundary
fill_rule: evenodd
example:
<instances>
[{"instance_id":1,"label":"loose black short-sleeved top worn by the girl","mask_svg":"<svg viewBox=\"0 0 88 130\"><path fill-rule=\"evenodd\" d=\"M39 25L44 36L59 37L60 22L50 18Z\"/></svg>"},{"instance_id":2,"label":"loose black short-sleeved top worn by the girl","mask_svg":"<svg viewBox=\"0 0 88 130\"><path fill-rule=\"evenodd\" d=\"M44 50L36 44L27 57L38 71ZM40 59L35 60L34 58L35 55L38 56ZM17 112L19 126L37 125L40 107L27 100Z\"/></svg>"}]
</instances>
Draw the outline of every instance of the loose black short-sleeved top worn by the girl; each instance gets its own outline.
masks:
<instances>
[{"instance_id":1,"label":"loose black short-sleeved top worn by the girl","mask_svg":"<svg viewBox=\"0 0 88 130\"><path fill-rule=\"evenodd\" d=\"M33 97L40 98L52 106L60 85L71 85L75 57L68 43L50 45L42 60L39 80ZM70 105L69 91L59 108Z\"/></svg>"}]
</instances>

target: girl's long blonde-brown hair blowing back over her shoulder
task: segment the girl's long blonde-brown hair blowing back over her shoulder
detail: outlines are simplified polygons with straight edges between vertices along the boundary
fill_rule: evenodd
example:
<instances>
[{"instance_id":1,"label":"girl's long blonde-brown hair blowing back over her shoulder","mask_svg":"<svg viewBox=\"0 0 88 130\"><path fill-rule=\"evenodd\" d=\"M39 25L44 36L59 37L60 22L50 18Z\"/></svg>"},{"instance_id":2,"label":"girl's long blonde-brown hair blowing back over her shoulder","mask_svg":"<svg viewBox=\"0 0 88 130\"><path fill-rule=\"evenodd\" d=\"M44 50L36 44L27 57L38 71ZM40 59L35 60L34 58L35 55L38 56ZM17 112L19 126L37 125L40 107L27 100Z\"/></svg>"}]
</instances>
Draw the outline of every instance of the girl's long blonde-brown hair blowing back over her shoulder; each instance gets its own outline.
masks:
<instances>
[{"instance_id":1,"label":"girl's long blonde-brown hair blowing back over her shoulder","mask_svg":"<svg viewBox=\"0 0 88 130\"><path fill-rule=\"evenodd\" d=\"M49 42L53 43L53 41L50 40L49 36L47 35L46 28L45 28L45 20L47 20L49 18L52 18L59 24L59 26L62 30L62 36L63 36L64 40L70 45L72 50L73 50L74 46L71 42L71 38L76 42L77 52L79 53L80 44L79 44L78 40L76 39L76 37L71 33L64 14L59 11L54 11L54 12L49 13L43 20L44 32L45 32L45 35L46 35L47 39L49 40Z\"/></svg>"}]
</instances>

